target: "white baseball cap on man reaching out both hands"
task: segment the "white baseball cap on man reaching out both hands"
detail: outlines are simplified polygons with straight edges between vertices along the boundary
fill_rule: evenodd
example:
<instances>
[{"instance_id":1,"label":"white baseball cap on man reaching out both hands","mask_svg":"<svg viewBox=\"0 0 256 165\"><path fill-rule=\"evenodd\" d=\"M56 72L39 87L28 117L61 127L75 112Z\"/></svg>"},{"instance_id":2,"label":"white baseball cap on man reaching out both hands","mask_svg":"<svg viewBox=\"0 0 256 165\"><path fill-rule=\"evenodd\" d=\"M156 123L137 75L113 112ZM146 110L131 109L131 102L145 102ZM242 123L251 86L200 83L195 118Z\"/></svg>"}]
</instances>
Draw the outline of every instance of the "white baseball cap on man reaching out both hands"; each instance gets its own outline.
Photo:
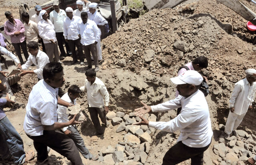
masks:
<instances>
[{"instance_id":1,"label":"white baseball cap on man reaching out both hands","mask_svg":"<svg viewBox=\"0 0 256 165\"><path fill-rule=\"evenodd\" d=\"M186 72L180 74L177 77L171 78L171 81L176 84L191 84L200 85L203 81L203 77L195 70L187 70Z\"/></svg>"}]
</instances>

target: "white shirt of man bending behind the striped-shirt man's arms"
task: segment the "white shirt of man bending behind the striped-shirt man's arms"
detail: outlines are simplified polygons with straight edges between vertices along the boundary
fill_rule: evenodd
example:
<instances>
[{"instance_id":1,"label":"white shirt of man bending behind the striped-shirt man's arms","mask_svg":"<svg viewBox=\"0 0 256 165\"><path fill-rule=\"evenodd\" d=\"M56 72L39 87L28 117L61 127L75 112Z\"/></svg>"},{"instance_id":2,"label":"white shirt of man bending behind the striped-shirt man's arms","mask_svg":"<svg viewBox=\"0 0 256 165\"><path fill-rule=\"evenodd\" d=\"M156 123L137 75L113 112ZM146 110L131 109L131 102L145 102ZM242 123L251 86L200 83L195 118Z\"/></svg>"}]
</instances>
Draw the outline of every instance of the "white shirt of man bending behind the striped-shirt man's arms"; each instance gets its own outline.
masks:
<instances>
[{"instance_id":1,"label":"white shirt of man bending behind the striped-shirt man's arms","mask_svg":"<svg viewBox=\"0 0 256 165\"><path fill-rule=\"evenodd\" d=\"M74 105L76 105L76 99L73 100L73 102L71 101L70 97L68 96L68 93L65 93L62 97L61 97L62 100L64 101L67 101L69 103L72 103L74 102ZM60 123L65 123L65 122L68 122L68 114L67 114L67 107L64 107L62 105L58 105L58 109L57 109L57 113L58 113L58 122ZM71 127L68 126L68 127ZM64 128L61 128L61 130L64 132L67 130L68 127L64 127Z\"/></svg>"}]
</instances>

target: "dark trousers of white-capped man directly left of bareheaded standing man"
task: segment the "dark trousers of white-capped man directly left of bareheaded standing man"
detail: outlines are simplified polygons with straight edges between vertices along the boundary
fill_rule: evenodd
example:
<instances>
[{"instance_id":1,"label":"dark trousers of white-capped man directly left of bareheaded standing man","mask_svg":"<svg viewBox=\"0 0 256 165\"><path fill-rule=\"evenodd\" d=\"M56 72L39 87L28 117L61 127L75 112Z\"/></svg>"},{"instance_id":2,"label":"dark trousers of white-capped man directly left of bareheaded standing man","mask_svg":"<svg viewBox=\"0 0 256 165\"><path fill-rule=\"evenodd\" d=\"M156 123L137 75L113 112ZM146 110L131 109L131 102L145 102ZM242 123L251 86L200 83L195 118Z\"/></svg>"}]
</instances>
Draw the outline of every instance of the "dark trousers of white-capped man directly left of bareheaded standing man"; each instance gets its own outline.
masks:
<instances>
[{"instance_id":1,"label":"dark trousers of white-capped man directly left of bareheaded standing man","mask_svg":"<svg viewBox=\"0 0 256 165\"><path fill-rule=\"evenodd\" d=\"M84 54L83 54L83 49L80 44L80 38L78 38L77 40L68 40L68 45L72 52L73 61L77 61L77 59L79 58L80 62L83 62ZM76 55L76 47L78 50L78 56Z\"/></svg>"}]
</instances>

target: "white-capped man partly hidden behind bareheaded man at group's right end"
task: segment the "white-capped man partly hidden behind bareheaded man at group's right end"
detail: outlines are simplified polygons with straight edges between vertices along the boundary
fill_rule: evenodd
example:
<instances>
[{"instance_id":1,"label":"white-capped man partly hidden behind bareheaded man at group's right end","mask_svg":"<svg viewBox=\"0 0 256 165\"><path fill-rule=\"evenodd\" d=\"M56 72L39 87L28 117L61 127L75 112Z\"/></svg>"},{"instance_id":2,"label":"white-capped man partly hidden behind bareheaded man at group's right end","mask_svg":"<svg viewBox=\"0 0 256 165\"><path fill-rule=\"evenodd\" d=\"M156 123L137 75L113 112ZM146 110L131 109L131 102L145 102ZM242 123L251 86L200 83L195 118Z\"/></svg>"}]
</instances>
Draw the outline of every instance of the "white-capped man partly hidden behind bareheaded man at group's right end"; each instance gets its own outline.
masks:
<instances>
[{"instance_id":1,"label":"white-capped man partly hidden behind bareheaded man at group's right end","mask_svg":"<svg viewBox=\"0 0 256 165\"><path fill-rule=\"evenodd\" d=\"M101 14L98 13L98 11L96 11L97 5L98 5L97 3L90 3L88 5L89 10L86 10L86 12L88 13L88 19L94 21L96 23L96 25L108 24L108 21L105 18L103 18L103 16L101 16ZM97 55L98 55L98 60L100 61L100 60L102 60L102 51L101 51L101 43L100 43L101 40L99 39L97 42L98 42L96 45Z\"/></svg>"}]
</instances>

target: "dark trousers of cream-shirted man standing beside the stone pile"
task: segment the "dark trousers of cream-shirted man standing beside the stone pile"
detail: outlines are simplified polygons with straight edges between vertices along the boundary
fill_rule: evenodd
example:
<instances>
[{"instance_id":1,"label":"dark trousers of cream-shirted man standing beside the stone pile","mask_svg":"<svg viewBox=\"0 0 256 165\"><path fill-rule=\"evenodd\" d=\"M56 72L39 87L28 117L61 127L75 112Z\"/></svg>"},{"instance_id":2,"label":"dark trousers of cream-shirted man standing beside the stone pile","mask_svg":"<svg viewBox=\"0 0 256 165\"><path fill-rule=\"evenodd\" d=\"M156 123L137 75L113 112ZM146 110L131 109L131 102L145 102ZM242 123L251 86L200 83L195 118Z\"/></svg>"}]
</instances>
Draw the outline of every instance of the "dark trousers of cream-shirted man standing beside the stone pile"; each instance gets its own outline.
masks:
<instances>
[{"instance_id":1,"label":"dark trousers of cream-shirted man standing beside the stone pile","mask_svg":"<svg viewBox=\"0 0 256 165\"><path fill-rule=\"evenodd\" d=\"M92 123L93 123L96 131L98 132L98 134L103 134L104 131L101 128L98 115L101 119L101 122L106 124L107 119L106 119L106 113L104 111L104 107L103 108L88 107L88 110L89 110L89 113L90 113L90 116L91 116L91 119L92 119Z\"/></svg>"}]
</instances>

